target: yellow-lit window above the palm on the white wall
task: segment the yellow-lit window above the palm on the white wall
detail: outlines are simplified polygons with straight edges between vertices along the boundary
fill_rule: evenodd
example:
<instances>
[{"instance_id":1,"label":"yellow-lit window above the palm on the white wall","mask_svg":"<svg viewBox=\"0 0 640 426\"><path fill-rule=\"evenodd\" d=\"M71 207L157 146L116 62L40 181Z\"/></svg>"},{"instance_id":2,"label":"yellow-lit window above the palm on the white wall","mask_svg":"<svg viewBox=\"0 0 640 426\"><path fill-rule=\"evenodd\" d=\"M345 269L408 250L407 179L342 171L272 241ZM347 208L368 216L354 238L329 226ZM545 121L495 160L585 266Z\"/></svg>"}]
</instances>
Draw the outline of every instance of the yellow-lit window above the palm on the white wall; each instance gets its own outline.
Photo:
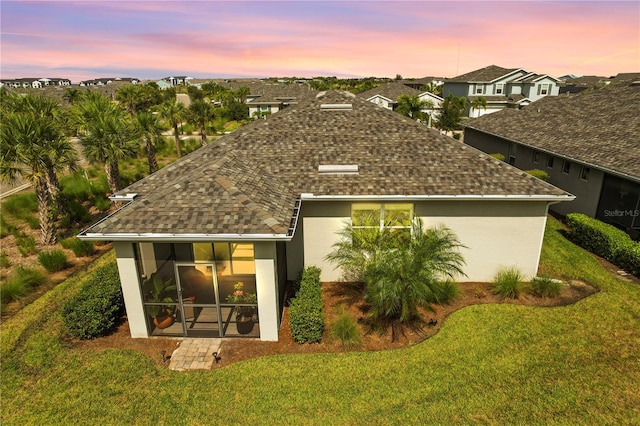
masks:
<instances>
[{"instance_id":1,"label":"yellow-lit window above the palm on the white wall","mask_svg":"<svg viewBox=\"0 0 640 426\"><path fill-rule=\"evenodd\" d=\"M353 204L351 223L356 229L383 227L411 232L413 204Z\"/></svg>"}]
</instances>

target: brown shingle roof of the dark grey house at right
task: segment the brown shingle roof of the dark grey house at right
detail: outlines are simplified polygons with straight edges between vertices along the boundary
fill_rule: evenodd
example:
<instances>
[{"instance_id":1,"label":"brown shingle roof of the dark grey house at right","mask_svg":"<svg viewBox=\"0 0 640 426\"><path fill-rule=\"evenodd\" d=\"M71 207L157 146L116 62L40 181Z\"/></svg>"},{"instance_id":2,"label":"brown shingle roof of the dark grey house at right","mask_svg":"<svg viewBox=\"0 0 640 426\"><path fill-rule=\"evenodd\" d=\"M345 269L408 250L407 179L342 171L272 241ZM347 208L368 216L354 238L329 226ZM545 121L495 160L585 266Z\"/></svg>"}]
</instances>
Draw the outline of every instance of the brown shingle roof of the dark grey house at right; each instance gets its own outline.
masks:
<instances>
[{"instance_id":1,"label":"brown shingle roof of the dark grey house at right","mask_svg":"<svg viewBox=\"0 0 640 426\"><path fill-rule=\"evenodd\" d=\"M640 86L612 84L470 120L466 127L640 180Z\"/></svg>"}]
</instances>

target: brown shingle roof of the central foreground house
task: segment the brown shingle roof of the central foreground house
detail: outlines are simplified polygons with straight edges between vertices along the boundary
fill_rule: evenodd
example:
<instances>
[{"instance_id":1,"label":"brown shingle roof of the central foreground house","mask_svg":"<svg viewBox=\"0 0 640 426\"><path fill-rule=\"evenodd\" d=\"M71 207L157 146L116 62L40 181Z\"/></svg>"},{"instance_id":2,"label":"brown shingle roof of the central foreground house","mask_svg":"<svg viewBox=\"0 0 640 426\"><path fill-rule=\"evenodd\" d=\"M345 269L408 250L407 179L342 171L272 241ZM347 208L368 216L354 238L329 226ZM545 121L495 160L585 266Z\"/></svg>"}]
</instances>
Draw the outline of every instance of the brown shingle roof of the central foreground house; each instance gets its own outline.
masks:
<instances>
[{"instance_id":1,"label":"brown shingle roof of the central foreground house","mask_svg":"<svg viewBox=\"0 0 640 426\"><path fill-rule=\"evenodd\" d=\"M351 109L323 109L351 104ZM353 175L318 166L357 164ZM120 191L88 232L285 234L296 197L565 193L400 114L330 91L225 135Z\"/></svg>"}]
</instances>

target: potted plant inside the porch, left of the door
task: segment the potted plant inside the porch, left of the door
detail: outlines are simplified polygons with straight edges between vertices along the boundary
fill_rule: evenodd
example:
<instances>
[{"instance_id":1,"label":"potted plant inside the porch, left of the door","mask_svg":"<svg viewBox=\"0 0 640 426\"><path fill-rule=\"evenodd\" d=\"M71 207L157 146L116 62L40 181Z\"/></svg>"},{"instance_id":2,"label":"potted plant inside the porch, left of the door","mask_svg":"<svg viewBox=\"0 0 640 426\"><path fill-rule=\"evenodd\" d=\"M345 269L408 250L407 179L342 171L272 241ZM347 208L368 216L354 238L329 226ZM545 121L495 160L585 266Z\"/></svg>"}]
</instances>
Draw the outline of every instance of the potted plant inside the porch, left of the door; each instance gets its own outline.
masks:
<instances>
[{"instance_id":1,"label":"potted plant inside the porch, left of the door","mask_svg":"<svg viewBox=\"0 0 640 426\"><path fill-rule=\"evenodd\" d=\"M147 305L147 313L153 318L153 324L162 329L175 322L176 308L174 297L177 287L173 278L163 280L155 272L143 281L144 300L148 303L167 303L167 305ZM169 304L170 303L170 304Z\"/></svg>"}]
</instances>

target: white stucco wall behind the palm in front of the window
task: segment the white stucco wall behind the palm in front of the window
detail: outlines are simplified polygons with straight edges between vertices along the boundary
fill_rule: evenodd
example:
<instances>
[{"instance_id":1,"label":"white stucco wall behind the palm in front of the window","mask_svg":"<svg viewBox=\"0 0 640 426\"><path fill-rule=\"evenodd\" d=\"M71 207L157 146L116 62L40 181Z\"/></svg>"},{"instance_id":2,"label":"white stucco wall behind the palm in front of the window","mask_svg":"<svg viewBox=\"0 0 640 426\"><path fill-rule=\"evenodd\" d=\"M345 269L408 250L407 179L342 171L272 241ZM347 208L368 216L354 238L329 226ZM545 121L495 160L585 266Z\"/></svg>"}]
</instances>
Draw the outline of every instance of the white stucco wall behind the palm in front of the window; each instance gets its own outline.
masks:
<instances>
[{"instance_id":1,"label":"white stucco wall behind the palm in front of the window","mask_svg":"<svg viewBox=\"0 0 640 426\"><path fill-rule=\"evenodd\" d=\"M547 203L535 201L420 201L415 214L425 227L450 228L462 249L467 277L458 281L491 281L503 266L516 266L535 276L546 224ZM341 271L325 260L350 220L351 203L304 201L304 265L322 269L323 281L341 279Z\"/></svg>"}]
</instances>

